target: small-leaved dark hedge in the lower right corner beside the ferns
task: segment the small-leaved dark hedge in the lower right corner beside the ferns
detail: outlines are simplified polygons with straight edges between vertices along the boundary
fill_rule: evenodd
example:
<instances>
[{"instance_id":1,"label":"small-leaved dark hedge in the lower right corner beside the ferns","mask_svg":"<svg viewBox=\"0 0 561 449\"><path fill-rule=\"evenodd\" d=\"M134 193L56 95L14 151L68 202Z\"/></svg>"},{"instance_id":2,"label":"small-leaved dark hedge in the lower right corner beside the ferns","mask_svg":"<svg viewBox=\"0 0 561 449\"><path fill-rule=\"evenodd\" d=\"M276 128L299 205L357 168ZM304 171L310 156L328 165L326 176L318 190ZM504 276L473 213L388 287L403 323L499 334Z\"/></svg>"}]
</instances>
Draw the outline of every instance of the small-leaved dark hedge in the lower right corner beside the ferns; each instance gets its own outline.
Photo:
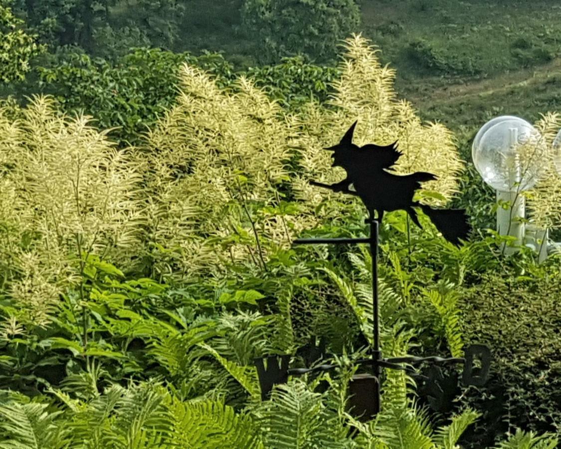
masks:
<instances>
[{"instance_id":1,"label":"small-leaved dark hedge in the lower right corner beside the ferns","mask_svg":"<svg viewBox=\"0 0 561 449\"><path fill-rule=\"evenodd\" d=\"M467 339L493 352L488 385L474 389L467 401L484 413L486 425L471 435L479 444L489 445L499 432L516 427L561 431L558 263L550 259L541 273L519 277L509 271L486 274L462 298Z\"/></svg>"}]
</instances>

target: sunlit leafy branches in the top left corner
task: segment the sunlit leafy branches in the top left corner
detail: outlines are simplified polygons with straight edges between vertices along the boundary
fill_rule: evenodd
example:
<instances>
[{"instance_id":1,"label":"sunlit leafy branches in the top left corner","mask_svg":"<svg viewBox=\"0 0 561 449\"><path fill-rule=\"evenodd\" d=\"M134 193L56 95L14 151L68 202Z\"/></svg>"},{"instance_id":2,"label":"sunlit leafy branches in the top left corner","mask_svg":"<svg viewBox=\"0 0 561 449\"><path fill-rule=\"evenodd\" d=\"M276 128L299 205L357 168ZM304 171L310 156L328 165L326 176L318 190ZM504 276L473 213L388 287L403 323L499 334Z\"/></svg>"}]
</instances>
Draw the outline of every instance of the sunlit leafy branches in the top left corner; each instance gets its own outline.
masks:
<instances>
[{"instance_id":1,"label":"sunlit leafy branches in the top left corner","mask_svg":"<svg viewBox=\"0 0 561 449\"><path fill-rule=\"evenodd\" d=\"M0 2L0 83L24 80L29 60L43 51L36 36L21 29L24 21L13 15L11 4Z\"/></svg>"}]
</instances>

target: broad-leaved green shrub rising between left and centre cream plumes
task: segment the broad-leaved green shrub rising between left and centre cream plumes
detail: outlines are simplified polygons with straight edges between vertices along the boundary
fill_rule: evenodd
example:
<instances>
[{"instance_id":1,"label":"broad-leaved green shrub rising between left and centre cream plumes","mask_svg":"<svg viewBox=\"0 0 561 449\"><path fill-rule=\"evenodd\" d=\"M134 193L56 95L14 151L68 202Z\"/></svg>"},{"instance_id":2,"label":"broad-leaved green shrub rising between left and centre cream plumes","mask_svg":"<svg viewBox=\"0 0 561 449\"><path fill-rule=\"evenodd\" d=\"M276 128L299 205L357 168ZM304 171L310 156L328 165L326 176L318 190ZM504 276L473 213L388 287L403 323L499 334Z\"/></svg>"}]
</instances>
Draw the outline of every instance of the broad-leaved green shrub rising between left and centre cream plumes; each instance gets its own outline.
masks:
<instances>
[{"instance_id":1,"label":"broad-leaved green shrub rising between left and centre cream plumes","mask_svg":"<svg viewBox=\"0 0 561 449\"><path fill-rule=\"evenodd\" d=\"M200 57L159 49L137 49L115 63L70 53L53 67L39 67L39 88L52 94L68 113L93 116L102 129L123 144L138 144L140 136L171 107L177 97L181 63L198 65L232 80L232 67L219 54ZM29 87L34 89L33 86Z\"/></svg>"}]
</instances>

